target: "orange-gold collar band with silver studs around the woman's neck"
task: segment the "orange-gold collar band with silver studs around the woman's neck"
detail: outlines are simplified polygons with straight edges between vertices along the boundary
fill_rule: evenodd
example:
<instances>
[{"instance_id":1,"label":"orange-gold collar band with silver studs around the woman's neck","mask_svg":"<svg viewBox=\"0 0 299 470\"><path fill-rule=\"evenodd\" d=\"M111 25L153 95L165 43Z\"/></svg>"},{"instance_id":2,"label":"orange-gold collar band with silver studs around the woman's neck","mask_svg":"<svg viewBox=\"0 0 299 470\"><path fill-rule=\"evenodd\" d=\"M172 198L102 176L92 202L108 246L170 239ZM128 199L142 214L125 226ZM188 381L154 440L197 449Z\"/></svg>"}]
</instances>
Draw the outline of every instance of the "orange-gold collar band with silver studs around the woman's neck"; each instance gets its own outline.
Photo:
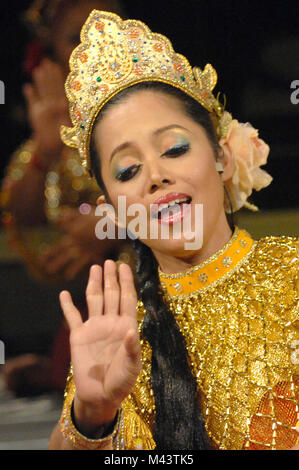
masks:
<instances>
[{"instance_id":1,"label":"orange-gold collar band with silver studs around the woman's neck","mask_svg":"<svg viewBox=\"0 0 299 470\"><path fill-rule=\"evenodd\" d=\"M177 274L166 274L159 268L161 287L165 294L176 297L206 289L231 274L255 243L246 230L236 227L229 242L200 265Z\"/></svg>"}]
</instances>

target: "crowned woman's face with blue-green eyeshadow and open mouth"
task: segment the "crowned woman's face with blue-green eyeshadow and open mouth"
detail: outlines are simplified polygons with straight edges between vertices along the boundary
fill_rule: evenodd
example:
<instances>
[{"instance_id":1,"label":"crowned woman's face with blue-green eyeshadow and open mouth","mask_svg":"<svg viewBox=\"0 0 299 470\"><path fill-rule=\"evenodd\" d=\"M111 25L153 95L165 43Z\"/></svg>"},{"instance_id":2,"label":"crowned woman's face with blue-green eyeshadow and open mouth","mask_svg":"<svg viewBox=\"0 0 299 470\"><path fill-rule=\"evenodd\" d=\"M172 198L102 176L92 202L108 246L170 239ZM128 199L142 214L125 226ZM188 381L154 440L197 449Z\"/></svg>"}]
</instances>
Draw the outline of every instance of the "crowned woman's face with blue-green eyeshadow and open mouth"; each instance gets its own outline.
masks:
<instances>
[{"instance_id":1,"label":"crowned woman's face with blue-green eyeshadow and open mouth","mask_svg":"<svg viewBox=\"0 0 299 470\"><path fill-rule=\"evenodd\" d=\"M94 137L103 182L116 214L119 196L126 197L127 208L136 203L146 208L143 223L147 231L142 241L154 253L192 256L192 250L185 250L190 240L184 234L175 238L178 227L183 232L188 217L193 233L200 223L203 243L214 230L227 227L214 151L203 128L188 117L176 98L157 91L137 91L107 110ZM173 206L171 215L169 203L175 200L181 202ZM199 204L202 221L196 221ZM161 210L157 213L156 209ZM134 217L136 214L127 222ZM158 239L149 230L153 220L159 229ZM161 239L162 226L168 226L168 239Z\"/></svg>"}]
</instances>

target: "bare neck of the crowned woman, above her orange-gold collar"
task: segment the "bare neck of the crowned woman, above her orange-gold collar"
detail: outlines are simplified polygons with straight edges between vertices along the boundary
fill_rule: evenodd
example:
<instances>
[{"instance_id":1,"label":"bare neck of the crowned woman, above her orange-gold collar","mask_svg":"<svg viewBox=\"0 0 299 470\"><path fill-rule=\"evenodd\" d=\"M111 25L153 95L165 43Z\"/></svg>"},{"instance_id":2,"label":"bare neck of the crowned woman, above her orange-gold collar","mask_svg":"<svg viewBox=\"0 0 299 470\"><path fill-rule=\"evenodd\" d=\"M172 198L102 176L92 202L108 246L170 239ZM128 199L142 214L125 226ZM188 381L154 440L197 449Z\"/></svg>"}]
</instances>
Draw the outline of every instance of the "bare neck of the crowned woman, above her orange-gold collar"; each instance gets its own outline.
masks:
<instances>
[{"instance_id":1,"label":"bare neck of the crowned woman, above her orange-gold collar","mask_svg":"<svg viewBox=\"0 0 299 470\"><path fill-rule=\"evenodd\" d=\"M190 251L189 256L186 250L182 255L162 253L158 250L153 250L153 253L162 272L176 274L206 261L218 250L221 250L231 237L232 230L225 219L225 222L218 224L213 228L213 231L204 233L202 247L196 252Z\"/></svg>"}]
</instances>

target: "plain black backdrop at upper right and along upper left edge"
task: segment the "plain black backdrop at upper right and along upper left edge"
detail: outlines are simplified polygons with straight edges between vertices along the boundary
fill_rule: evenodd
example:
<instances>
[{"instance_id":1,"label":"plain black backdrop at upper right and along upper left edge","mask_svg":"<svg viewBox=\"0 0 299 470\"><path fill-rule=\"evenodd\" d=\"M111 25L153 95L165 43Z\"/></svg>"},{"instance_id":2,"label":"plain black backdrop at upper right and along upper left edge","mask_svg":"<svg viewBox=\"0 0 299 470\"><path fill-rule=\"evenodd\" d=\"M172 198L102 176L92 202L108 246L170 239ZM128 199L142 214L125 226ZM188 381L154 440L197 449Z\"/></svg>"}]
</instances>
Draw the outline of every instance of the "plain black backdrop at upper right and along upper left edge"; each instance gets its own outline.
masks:
<instances>
[{"instance_id":1,"label":"plain black backdrop at upper right and along upper left edge","mask_svg":"<svg viewBox=\"0 0 299 470\"><path fill-rule=\"evenodd\" d=\"M269 188L251 199L262 209L298 207L299 105L290 84L299 80L299 3L293 1L125 1L129 17L166 34L192 65L210 62L227 110L251 122L270 144ZM28 135L22 119L22 62L28 33L19 18L30 1L1 2L0 177L11 152Z\"/></svg>"}]
</instances>

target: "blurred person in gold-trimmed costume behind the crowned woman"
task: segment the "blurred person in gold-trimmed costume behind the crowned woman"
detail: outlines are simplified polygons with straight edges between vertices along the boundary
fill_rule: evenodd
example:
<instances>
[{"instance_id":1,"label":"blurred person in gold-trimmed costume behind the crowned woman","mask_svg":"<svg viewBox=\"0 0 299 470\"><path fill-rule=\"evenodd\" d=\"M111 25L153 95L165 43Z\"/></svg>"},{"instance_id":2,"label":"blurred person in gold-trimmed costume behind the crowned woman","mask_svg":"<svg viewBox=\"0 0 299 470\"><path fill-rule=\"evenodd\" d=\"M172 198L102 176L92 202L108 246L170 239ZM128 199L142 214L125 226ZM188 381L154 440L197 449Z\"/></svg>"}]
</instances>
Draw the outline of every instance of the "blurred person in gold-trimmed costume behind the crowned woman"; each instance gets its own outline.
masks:
<instances>
[{"instance_id":1,"label":"blurred person in gold-trimmed costume behind the crowned woman","mask_svg":"<svg viewBox=\"0 0 299 470\"><path fill-rule=\"evenodd\" d=\"M70 122L64 91L69 57L95 8L124 14L118 0L37 0L24 17L33 33L24 62L30 83L23 89L32 132L10 159L0 202L10 245L29 273L49 285L84 280L91 264L127 256L119 242L96 238L94 208L101 192L82 170L77 150L60 139L61 124ZM63 389L68 364L63 323L50 357L15 357L2 373L17 394L39 394Z\"/></svg>"}]
</instances>

